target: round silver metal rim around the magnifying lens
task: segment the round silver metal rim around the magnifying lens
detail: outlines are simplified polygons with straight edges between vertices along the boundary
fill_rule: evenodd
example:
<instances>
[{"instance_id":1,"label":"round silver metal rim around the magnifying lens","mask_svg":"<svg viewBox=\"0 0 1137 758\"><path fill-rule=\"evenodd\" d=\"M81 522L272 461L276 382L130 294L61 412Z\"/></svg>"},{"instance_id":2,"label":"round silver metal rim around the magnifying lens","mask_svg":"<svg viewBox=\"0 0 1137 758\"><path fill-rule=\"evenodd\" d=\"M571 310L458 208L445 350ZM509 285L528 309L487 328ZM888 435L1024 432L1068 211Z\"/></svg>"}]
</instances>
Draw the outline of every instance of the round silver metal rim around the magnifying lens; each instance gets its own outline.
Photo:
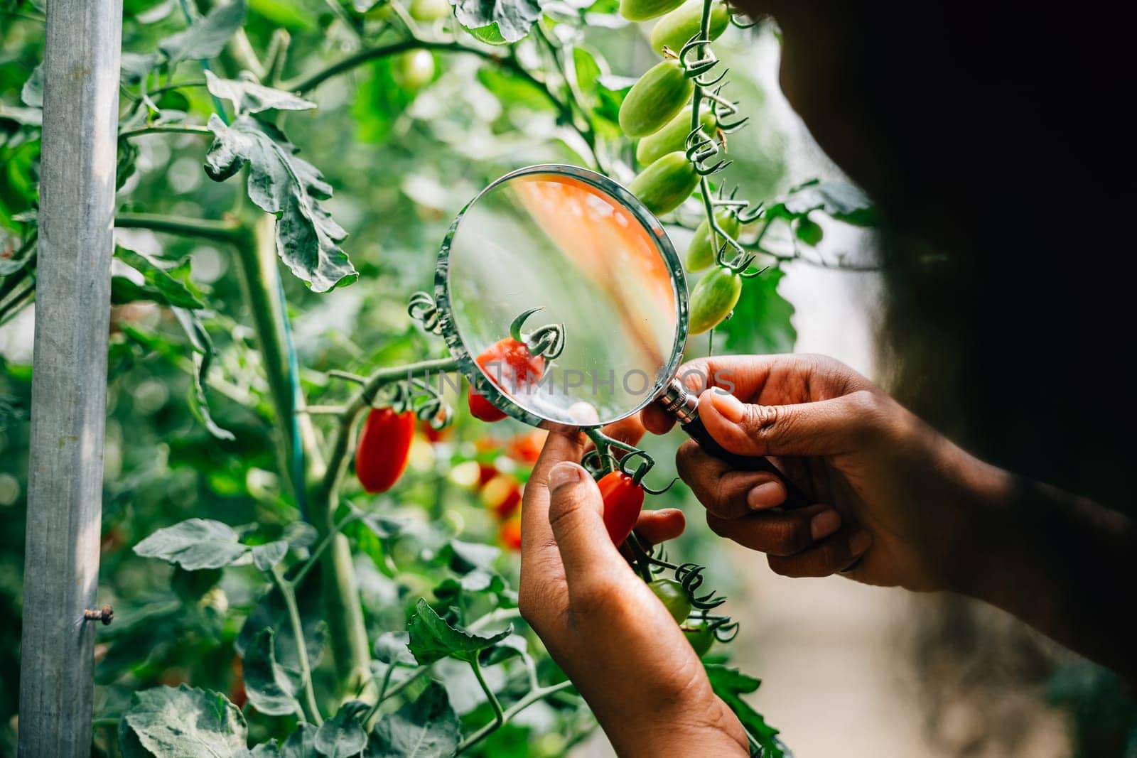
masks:
<instances>
[{"instance_id":1,"label":"round silver metal rim around the magnifying lens","mask_svg":"<svg viewBox=\"0 0 1137 758\"><path fill-rule=\"evenodd\" d=\"M644 393L644 399L638 406L616 418L601 419L601 423L597 424L597 426L612 424L639 413L662 395L669 385L672 384L672 380L679 368L679 363L683 357L683 347L687 343L688 324L687 277L683 274L683 265L679 260L679 255L675 252L675 248L672 245L671 239L667 236L666 231L664 231L663 224L661 224L659 219L655 217L655 214L648 210L647 207L640 202L639 198L629 192L628 189L619 182L580 166L571 166L568 164L538 164L536 166L526 166L524 168L509 172L505 176L501 176L488 184L470 202L467 202L460 211L458 211L458 215L450 225L450 230L447 232L446 239L442 241L442 247L438 253L438 265L434 268L434 306L438 309L440 332L442 333L442 339L446 340L447 347L450 349L450 355L458 365L458 370L464 374L466 378L473 383L474 388L481 392L482 395L496 408L521 422L524 422L525 424L529 424L530 426L542 426L550 423L568 425L566 422L549 419L522 408L508 395L506 395L496 384L493 384L493 382L485 377L482 370L478 367L478 364L474 363L474 357L470 355L470 351L466 350L466 345L462 341L458 324L454 318L454 309L450 303L449 294L450 245L454 242L455 234L457 234L458 228L462 226L462 220L466 216L466 213L485 194L493 191L499 185L505 184L511 180L515 180L518 176L536 176L539 174L571 176L615 198L615 200L619 201L625 209L631 211L634 218L644 225L647 232L654 235L656 240L656 249L659 251L664 265L667 267L667 273L671 275L671 286L674 292L677 303L675 340L671 347L671 358L666 366L661 367L659 373L655 377L655 383ZM572 335L567 335L566 339L571 340Z\"/></svg>"}]
</instances>

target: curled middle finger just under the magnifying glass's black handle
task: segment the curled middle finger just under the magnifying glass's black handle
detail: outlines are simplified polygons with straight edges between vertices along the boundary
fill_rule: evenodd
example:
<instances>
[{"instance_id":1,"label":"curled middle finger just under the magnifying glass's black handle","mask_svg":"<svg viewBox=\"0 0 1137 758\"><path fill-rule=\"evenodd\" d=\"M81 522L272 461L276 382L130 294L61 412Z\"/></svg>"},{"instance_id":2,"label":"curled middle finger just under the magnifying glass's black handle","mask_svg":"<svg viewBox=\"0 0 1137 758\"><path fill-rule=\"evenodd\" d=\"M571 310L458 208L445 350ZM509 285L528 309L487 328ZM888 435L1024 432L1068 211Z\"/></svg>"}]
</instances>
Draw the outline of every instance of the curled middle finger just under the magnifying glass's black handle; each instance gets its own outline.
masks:
<instances>
[{"instance_id":1,"label":"curled middle finger just under the magnifying glass's black handle","mask_svg":"<svg viewBox=\"0 0 1137 758\"><path fill-rule=\"evenodd\" d=\"M698 501L722 518L738 518L786 501L786 484L777 474L738 470L694 440L679 447L675 467Z\"/></svg>"}]
</instances>

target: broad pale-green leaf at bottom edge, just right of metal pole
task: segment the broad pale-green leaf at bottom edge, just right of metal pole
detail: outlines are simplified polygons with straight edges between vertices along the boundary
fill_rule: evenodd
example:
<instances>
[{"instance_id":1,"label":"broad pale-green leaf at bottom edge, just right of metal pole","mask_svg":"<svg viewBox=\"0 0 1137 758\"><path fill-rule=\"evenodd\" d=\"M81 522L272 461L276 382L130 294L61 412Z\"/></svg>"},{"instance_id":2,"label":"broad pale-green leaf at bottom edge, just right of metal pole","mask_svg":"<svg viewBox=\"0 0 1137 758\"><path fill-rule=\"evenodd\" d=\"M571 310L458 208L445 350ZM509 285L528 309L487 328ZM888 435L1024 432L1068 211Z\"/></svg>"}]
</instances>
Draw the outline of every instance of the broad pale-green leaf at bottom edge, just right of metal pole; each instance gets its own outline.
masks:
<instances>
[{"instance_id":1,"label":"broad pale-green leaf at bottom edge, just right of metal pole","mask_svg":"<svg viewBox=\"0 0 1137 758\"><path fill-rule=\"evenodd\" d=\"M118 722L127 758L244 757L248 727L236 706L219 692L182 684L135 692Z\"/></svg>"}]
</instances>

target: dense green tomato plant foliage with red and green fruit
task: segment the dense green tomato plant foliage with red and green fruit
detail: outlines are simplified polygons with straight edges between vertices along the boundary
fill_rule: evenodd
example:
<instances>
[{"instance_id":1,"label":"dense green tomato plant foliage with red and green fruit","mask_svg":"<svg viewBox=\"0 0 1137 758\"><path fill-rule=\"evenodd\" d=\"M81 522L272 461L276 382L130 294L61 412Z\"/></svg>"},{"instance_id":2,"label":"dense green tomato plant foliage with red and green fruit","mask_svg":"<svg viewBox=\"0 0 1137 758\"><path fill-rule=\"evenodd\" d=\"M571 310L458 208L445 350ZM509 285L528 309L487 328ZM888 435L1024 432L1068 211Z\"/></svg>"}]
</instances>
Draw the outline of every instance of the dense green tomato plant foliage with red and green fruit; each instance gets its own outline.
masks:
<instances>
[{"instance_id":1,"label":"dense green tomato plant foliage with red and green fruit","mask_svg":"<svg viewBox=\"0 0 1137 758\"><path fill-rule=\"evenodd\" d=\"M412 733L439 755L565 753L595 724L518 618L509 555L539 440L508 420L490 439L476 419L501 413L437 381L455 364L429 298L409 299L410 319L398 303L481 186L568 163L628 184L677 239L706 223L707 276L748 276L749 256L773 266L732 307L791 347L774 288L800 256L767 230L815 244L811 214L866 223L868 201L771 181L760 207L719 181L742 119L711 83L709 42L746 25L721 3L629 0L629 16L659 18L650 44L604 2L124 5L101 556L116 620L98 633L93 752L155 752L176 718L192 725L180 739L219 753L398 755ZM43 5L0 13L0 575L18 576L31 357L9 335L34 302ZM637 45L657 58L631 85L614 72L633 73ZM490 383L538 378L556 353L556 325L522 330L531 315L479 360ZM416 426L429 444L412 445ZM632 531L655 492L626 463L642 452L596 441L614 540L646 581L679 585L688 624L727 641L737 626L713 613L704 569ZM0 582L0 613L18 609ZM0 677L15 682L18 639L2 634ZM756 686L713 666L724 701ZM539 718L514 719L524 707Z\"/></svg>"}]
</instances>

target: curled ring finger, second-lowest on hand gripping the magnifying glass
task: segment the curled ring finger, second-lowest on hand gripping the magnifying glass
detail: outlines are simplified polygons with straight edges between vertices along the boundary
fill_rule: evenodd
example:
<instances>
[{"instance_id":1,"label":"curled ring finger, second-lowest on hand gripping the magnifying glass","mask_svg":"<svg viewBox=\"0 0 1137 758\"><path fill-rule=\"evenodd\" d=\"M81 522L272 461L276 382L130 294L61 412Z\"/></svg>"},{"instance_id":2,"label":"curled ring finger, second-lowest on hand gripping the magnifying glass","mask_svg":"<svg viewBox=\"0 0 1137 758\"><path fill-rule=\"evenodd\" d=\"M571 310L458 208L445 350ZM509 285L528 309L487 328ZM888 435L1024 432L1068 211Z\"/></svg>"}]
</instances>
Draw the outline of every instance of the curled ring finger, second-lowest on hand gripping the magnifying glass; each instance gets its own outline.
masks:
<instances>
[{"instance_id":1,"label":"curled ring finger, second-lowest on hand gripping the magnifying glass","mask_svg":"<svg viewBox=\"0 0 1137 758\"><path fill-rule=\"evenodd\" d=\"M707 513L707 526L719 536L771 556L794 556L816 545L841 526L840 515L825 505L766 511L744 518Z\"/></svg>"}]
</instances>

